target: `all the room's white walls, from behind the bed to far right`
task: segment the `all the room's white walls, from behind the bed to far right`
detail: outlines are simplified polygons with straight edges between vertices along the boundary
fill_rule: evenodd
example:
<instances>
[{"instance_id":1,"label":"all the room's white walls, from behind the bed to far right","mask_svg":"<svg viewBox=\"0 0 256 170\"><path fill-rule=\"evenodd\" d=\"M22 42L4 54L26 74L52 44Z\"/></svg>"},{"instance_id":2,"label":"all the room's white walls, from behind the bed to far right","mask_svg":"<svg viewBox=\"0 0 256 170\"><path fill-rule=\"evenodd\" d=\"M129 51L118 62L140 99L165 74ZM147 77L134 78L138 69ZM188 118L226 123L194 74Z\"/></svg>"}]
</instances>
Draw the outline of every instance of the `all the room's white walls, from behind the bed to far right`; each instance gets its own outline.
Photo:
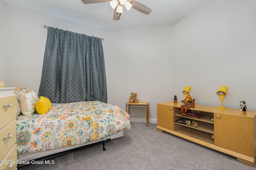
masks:
<instances>
[{"instance_id":1,"label":"all the room's white walls, from behind the bed to far right","mask_svg":"<svg viewBox=\"0 0 256 170\"><path fill-rule=\"evenodd\" d=\"M250 91L256 85L255 9L255 0L215 0L173 24L108 32L4 3L6 86L38 91L45 24L104 38L108 103L125 109L136 92L140 101L150 103L152 122L156 104L173 101L174 95L181 101L186 85L196 104L220 106L216 91L226 85L224 107L238 108L244 100L256 110ZM131 108L131 120L145 121L145 113Z\"/></svg>"}]
</instances>

